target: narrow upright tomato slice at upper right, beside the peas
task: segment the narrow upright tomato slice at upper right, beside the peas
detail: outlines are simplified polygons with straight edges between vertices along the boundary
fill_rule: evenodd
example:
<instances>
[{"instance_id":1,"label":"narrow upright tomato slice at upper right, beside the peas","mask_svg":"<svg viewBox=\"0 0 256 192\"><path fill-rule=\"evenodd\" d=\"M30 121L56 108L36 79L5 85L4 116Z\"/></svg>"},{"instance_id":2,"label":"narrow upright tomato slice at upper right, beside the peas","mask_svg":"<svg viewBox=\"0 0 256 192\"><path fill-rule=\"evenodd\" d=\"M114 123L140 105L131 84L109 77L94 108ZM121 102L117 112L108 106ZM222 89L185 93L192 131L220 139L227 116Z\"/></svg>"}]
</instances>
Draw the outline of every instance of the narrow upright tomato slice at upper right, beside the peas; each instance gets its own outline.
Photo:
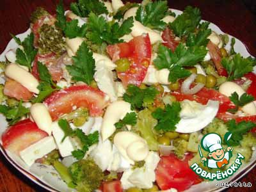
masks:
<instances>
[{"instance_id":1,"label":"narrow upright tomato slice at upper right, beside the peas","mask_svg":"<svg viewBox=\"0 0 256 192\"><path fill-rule=\"evenodd\" d=\"M213 44L211 41L207 44L207 48L209 49L211 59L218 71L218 74L220 76L225 76L227 77L227 71L221 64L221 52L220 49L217 45Z\"/></svg>"}]
</instances>

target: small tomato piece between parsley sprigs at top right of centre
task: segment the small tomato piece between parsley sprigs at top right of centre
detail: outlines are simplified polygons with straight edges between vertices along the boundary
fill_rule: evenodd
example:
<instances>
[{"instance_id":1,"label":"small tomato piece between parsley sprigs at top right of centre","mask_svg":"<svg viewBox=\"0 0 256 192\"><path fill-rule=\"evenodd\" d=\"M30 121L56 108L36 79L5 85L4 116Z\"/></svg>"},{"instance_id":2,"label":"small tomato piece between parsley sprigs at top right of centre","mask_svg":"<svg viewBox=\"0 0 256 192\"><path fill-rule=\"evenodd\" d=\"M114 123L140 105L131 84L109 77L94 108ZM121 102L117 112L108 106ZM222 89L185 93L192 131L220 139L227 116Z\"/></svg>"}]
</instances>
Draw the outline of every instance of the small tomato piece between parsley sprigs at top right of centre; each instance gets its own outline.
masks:
<instances>
[{"instance_id":1,"label":"small tomato piece between parsley sprigs at top right of centre","mask_svg":"<svg viewBox=\"0 0 256 192\"><path fill-rule=\"evenodd\" d=\"M172 52L174 52L176 47L179 45L179 41L175 40L175 35L173 34L173 31L169 28L164 29L162 38L164 40L163 45L171 49Z\"/></svg>"}]
</instances>

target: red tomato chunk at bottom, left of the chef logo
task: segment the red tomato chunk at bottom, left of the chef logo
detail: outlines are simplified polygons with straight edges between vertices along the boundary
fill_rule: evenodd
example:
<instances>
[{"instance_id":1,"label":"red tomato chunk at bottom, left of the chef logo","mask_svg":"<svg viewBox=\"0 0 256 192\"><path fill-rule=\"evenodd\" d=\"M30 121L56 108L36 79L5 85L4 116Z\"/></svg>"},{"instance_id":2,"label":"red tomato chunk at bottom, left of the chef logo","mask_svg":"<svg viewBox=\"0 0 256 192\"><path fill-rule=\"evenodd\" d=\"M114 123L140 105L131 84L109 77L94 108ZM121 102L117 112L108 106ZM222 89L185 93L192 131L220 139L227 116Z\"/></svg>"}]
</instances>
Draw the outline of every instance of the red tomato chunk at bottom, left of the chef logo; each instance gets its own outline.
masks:
<instances>
[{"instance_id":1,"label":"red tomato chunk at bottom, left of the chef logo","mask_svg":"<svg viewBox=\"0 0 256 192\"><path fill-rule=\"evenodd\" d=\"M189 168L188 164L192 157L188 154L184 160L180 160L174 154L162 156L156 168L156 182L159 188L184 191L198 182L198 175Z\"/></svg>"}]
</instances>

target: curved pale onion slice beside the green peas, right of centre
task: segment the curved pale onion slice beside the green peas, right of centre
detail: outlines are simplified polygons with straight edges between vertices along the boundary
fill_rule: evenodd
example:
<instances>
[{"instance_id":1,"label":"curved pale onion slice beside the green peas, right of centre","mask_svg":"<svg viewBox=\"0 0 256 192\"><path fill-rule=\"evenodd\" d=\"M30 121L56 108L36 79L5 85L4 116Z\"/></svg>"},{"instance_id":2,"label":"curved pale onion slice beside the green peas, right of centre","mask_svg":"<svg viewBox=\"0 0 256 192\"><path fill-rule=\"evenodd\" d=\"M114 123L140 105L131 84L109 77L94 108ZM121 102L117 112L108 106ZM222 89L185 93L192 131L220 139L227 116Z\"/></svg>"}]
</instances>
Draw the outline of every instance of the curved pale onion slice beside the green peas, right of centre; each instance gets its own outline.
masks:
<instances>
[{"instance_id":1,"label":"curved pale onion slice beside the green peas, right of centre","mask_svg":"<svg viewBox=\"0 0 256 192\"><path fill-rule=\"evenodd\" d=\"M193 95L197 92L199 92L203 87L203 83L197 83L196 86L190 89L191 84L195 81L196 79L196 74L191 74L185 81L183 81L180 91L184 94L187 95Z\"/></svg>"}]
</instances>

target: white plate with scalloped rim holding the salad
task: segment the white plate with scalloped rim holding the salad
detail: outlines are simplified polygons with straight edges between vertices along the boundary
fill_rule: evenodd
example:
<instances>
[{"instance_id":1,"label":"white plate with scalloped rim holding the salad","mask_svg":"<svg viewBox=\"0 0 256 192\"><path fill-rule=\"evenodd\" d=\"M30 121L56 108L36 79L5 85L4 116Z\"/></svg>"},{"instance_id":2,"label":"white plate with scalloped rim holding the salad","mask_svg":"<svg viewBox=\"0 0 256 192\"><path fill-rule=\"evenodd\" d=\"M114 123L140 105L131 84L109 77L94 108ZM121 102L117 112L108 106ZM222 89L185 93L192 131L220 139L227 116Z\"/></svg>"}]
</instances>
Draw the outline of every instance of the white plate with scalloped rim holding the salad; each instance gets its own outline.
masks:
<instances>
[{"instance_id":1,"label":"white plate with scalloped rim holding the salad","mask_svg":"<svg viewBox=\"0 0 256 192\"><path fill-rule=\"evenodd\" d=\"M182 13L179 10L172 10L172 11L175 12L177 15ZM218 34L225 34L215 24L211 23L209 27L212 29L212 31L216 31L216 33ZM31 33L30 29L28 29L26 32L19 34L17 36L21 40L23 40L29 33ZM233 37L231 35L228 35L228 36L230 39ZM17 47L18 45L12 39L6 46L6 49L4 50L4 52L2 52L2 54L0 55L0 61L5 60L4 56L7 51L9 51L10 49L16 49ZM230 49L230 43L228 43L227 49ZM239 52L244 57L250 56L249 52L246 49L246 46L237 38L236 38L235 50L236 52ZM1 79L0 79L0 82L1 82ZM4 116L0 115L0 135L6 130L6 126L7 126L7 123ZM21 173L26 175L26 177L31 179L33 182L35 182L42 188L45 188L49 191L54 191L54 192L55 191L60 191L60 192L74 191L74 189L67 188L67 185L60 179L60 177L58 176L58 173L56 173L56 170L54 170L52 166L45 166L42 164L35 163L33 164L33 166L28 168L28 166L24 164L24 162L20 159L20 157L10 154L9 152L6 152L6 150L4 150L2 145L0 145L0 150L3 153L4 157L6 157L6 159L15 168L17 168L17 170L19 170ZM232 177L229 177L226 180L222 180L221 182L230 182L230 181L235 182L241 179L241 177L243 177L244 175L246 175L246 173L252 170L255 164L256 164L256 154L254 152L252 159L248 164L245 164L242 168L240 168L239 171L237 171L234 175L232 175ZM202 182L200 184L192 186L187 191L189 192L190 191L221 191L223 189L225 188L217 188L216 181L214 180L212 182Z\"/></svg>"}]
</instances>

